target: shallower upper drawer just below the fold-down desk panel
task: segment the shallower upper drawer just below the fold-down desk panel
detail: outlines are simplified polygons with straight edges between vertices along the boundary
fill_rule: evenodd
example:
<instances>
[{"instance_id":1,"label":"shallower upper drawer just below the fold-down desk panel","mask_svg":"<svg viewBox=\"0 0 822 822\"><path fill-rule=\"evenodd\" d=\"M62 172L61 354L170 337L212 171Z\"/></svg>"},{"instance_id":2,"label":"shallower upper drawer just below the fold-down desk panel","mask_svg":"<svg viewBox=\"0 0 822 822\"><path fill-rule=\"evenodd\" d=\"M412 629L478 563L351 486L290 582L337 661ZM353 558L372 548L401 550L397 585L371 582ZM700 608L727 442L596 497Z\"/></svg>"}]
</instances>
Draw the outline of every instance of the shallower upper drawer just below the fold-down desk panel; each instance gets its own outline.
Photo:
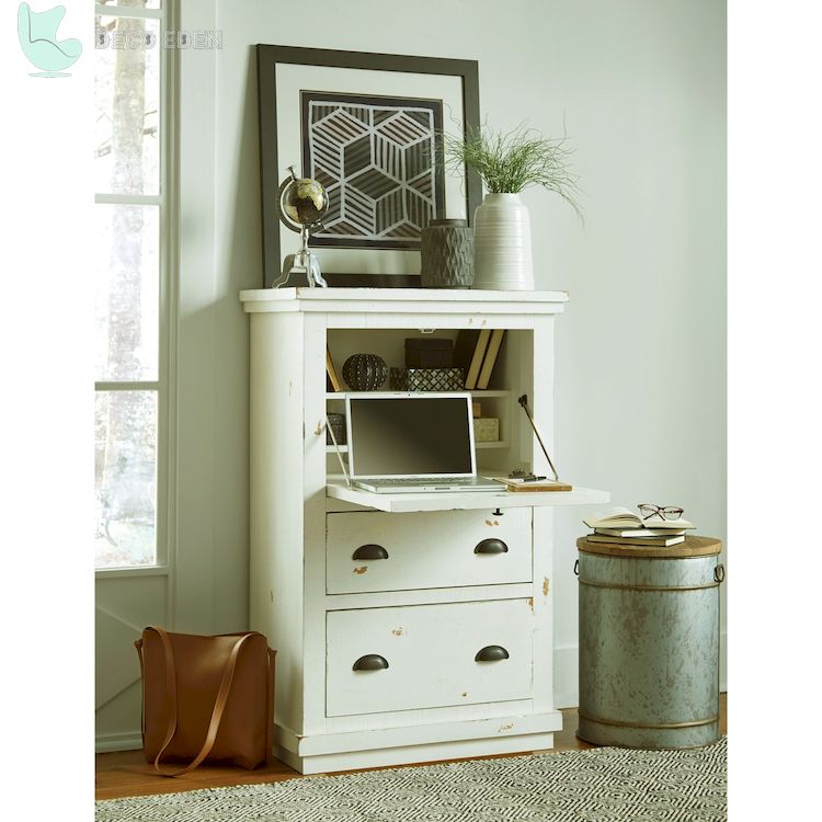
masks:
<instances>
[{"instance_id":1,"label":"shallower upper drawer just below the fold-down desk panel","mask_svg":"<svg viewBox=\"0 0 822 822\"><path fill-rule=\"evenodd\" d=\"M326 591L530 582L530 509L328 514Z\"/></svg>"}]
</instances>

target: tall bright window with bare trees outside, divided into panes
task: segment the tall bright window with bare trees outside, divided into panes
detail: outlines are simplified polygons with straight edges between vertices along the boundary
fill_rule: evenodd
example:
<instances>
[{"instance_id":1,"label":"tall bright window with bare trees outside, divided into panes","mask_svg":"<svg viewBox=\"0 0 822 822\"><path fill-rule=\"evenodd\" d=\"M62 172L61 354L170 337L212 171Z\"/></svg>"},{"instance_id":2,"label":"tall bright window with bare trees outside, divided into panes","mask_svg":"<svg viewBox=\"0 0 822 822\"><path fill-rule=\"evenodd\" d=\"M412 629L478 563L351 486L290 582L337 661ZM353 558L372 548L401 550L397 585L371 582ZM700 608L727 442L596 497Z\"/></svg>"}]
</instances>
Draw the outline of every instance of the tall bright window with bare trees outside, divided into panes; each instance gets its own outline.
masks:
<instances>
[{"instance_id":1,"label":"tall bright window with bare trees outside, divided into panes","mask_svg":"<svg viewBox=\"0 0 822 822\"><path fill-rule=\"evenodd\" d=\"M171 50L160 0L95 4L99 569L164 563Z\"/></svg>"}]
</instances>

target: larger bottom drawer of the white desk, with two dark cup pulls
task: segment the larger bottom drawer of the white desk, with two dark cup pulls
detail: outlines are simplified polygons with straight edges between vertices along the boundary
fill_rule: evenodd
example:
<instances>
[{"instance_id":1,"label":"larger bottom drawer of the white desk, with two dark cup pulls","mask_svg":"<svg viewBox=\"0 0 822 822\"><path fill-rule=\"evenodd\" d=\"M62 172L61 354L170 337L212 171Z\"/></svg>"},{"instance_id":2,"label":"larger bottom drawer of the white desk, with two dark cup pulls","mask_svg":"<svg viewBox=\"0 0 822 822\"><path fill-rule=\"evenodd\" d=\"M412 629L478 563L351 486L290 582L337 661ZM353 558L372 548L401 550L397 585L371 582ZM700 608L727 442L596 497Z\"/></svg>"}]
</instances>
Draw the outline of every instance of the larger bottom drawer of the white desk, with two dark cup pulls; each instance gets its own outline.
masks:
<instances>
[{"instance_id":1,"label":"larger bottom drawer of the white desk, with two dark cup pulls","mask_svg":"<svg viewBox=\"0 0 822 822\"><path fill-rule=\"evenodd\" d=\"M328 612L326 713L530 698L534 619L527 600Z\"/></svg>"}]
</instances>

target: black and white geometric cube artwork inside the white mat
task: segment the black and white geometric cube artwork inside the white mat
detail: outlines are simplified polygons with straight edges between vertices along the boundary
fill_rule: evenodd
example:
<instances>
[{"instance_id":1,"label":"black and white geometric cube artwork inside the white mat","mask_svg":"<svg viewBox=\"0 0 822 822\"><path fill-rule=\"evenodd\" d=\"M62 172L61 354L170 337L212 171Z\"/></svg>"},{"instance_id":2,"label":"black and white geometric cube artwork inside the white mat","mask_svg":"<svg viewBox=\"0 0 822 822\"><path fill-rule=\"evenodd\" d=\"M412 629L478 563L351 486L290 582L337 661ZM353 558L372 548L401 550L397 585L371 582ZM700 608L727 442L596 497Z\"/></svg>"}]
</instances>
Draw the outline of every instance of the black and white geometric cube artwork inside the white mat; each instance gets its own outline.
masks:
<instances>
[{"instance_id":1,"label":"black and white geometric cube artwork inside the white mat","mask_svg":"<svg viewBox=\"0 0 822 822\"><path fill-rule=\"evenodd\" d=\"M312 246L419 249L445 215L439 100L301 92L304 174L329 193Z\"/></svg>"}]
</instances>

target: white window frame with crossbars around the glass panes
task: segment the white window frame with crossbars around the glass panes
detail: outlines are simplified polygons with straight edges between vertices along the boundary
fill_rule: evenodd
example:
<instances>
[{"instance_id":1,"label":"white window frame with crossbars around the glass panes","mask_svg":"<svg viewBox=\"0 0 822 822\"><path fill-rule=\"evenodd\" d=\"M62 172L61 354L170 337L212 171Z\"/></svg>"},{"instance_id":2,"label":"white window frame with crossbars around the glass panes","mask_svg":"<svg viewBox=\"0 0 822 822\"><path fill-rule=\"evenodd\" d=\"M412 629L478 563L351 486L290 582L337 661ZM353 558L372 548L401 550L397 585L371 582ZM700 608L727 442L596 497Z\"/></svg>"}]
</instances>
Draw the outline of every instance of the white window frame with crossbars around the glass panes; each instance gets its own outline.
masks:
<instances>
[{"instance_id":1,"label":"white window frame with crossbars around the glass panes","mask_svg":"<svg viewBox=\"0 0 822 822\"><path fill-rule=\"evenodd\" d=\"M118 576L167 576L173 567L172 539L176 511L176 351L179 305L179 78L180 56L175 48L163 48L162 33L176 30L179 9L173 0L162 0L159 9L94 4L94 14L158 20L160 25L160 162L158 194L95 194L95 205L144 205L159 209L159 306L157 380L99 380L94 392L157 392L157 499L155 563L118 568L95 568L98 579Z\"/></svg>"}]
</instances>

